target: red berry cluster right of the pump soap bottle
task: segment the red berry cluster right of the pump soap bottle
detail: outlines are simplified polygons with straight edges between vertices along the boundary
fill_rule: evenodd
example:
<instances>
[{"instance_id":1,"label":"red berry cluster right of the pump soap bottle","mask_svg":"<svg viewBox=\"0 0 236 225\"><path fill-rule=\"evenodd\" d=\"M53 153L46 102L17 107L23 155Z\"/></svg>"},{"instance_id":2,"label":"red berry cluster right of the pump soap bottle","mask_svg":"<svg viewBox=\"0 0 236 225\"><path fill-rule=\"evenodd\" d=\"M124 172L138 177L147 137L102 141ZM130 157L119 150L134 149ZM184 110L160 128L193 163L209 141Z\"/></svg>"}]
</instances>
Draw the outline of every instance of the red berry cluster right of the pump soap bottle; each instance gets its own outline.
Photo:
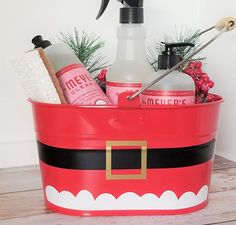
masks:
<instances>
[{"instance_id":1,"label":"red berry cluster right of the pump soap bottle","mask_svg":"<svg viewBox=\"0 0 236 225\"><path fill-rule=\"evenodd\" d=\"M213 102L216 96L209 93L209 90L215 86L208 74L202 70L202 62L191 61L184 69L184 73L193 78L196 85L196 103Z\"/></svg>"}]
</instances>

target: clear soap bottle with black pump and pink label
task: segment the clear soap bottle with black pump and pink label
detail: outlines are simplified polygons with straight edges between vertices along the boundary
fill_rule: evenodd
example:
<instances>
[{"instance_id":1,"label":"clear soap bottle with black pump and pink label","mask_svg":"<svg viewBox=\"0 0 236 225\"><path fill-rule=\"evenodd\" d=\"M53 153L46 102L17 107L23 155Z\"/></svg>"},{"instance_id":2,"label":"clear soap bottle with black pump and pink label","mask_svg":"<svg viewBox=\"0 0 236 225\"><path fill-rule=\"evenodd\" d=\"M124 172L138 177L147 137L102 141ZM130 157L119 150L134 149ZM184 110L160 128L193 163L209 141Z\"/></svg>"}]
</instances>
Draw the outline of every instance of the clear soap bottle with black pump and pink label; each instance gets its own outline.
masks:
<instances>
[{"instance_id":1,"label":"clear soap bottle with black pump and pink label","mask_svg":"<svg viewBox=\"0 0 236 225\"><path fill-rule=\"evenodd\" d=\"M165 51L158 57L158 68L156 73L146 79L142 86L145 87L166 70L172 68L182 61L182 58L174 51L178 47L194 47L192 43L164 43ZM187 105L195 103L195 83L188 75L175 70L164 77L158 83L151 86L141 94L143 105Z\"/></svg>"}]
</instances>

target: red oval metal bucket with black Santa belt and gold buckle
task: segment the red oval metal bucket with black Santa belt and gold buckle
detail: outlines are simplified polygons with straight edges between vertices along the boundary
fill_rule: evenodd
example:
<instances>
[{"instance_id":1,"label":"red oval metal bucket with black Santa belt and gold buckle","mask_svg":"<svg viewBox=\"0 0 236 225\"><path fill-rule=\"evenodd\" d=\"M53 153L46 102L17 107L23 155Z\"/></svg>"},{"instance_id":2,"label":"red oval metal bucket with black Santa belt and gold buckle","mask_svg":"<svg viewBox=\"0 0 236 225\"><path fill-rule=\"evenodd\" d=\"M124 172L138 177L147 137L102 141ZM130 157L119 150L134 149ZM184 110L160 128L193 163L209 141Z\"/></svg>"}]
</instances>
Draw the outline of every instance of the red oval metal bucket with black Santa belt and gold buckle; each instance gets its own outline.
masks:
<instances>
[{"instance_id":1,"label":"red oval metal bucket with black Santa belt and gold buckle","mask_svg":"<svg viewBox=\"0 0 236 225\"><path fill-rule=\"evenodd\" d=\"M32 101L45 202L70 215L181 214L207 205L220 105Z\"/></svg>"}]
</instances>

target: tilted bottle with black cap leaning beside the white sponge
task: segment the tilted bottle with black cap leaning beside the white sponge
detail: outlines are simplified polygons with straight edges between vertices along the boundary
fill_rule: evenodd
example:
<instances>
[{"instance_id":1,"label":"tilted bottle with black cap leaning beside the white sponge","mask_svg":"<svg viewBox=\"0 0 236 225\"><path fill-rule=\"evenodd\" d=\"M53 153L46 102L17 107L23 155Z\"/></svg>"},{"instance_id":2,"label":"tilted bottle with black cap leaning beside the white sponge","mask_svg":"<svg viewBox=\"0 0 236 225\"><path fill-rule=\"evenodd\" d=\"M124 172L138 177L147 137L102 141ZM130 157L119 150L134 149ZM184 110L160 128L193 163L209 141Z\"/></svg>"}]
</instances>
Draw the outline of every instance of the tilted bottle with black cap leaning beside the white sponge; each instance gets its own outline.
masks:
<instances>
[{"instance_id":1,"label":"tilted bottle with black cap leaning beside the white sponge","mask_svg":"<svg viewBox=\"0 0 236 225\"><path fill-rule=\"evenodd\" d=\"M38 35L33 38L35 48L43 48L50 59L67 103L73 105L111 104L99 85L90 76L73 50L63 43L51 44Z\"/></svg>"}]
</instances>

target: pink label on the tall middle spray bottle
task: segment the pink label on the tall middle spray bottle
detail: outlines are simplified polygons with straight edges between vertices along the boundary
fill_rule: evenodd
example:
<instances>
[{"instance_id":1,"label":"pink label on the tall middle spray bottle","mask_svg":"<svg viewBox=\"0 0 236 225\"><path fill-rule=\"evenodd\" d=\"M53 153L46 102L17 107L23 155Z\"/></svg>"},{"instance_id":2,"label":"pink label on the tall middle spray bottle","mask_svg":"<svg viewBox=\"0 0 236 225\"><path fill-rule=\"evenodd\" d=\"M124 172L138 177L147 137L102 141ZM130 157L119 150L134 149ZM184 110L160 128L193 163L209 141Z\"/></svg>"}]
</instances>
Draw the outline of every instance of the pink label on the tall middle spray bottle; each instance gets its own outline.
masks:
<instances>
[{"instance_id":1,"label":"pink label on the tall middle spray bottle","mask_svg":"<svg viewBox=\"0 0 236 225\"><path fill-rule=\"evenodd\" d=\"M141 83L116 83L108 82L106 83L106 93L113 104L118 104L118 96L126 91L136 92L141 89Z\"/></svg>"}]
</instances>

